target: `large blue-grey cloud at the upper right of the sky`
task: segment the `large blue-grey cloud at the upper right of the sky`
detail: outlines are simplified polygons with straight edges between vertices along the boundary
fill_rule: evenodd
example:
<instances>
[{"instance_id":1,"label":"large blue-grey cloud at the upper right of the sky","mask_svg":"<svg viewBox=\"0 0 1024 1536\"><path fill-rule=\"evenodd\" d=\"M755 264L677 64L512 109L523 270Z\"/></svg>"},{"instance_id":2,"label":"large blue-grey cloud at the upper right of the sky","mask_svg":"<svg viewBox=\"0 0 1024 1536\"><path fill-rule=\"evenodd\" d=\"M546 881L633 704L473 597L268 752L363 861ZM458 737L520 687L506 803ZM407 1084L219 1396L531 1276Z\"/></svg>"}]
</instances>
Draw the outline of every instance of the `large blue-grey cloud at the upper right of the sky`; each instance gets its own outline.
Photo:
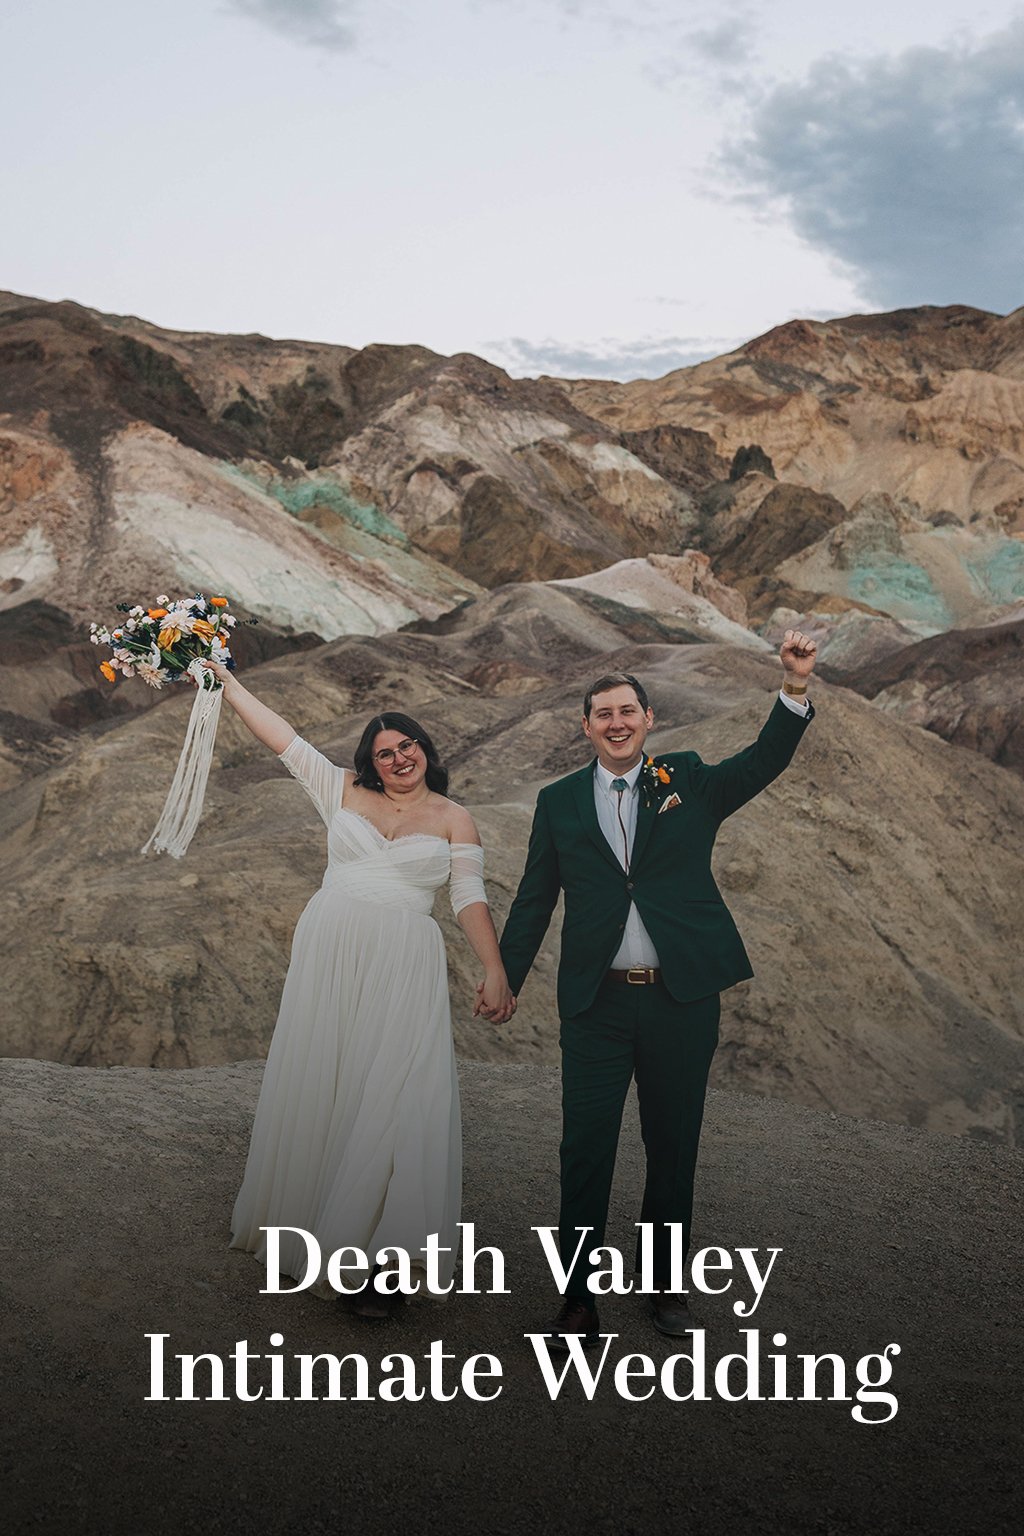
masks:
<instances>
[{"instance_id":1,"label":"large blue-grey cloud at the upper right of the sky","mask_svg":"<svg viewBox=\"0 0 1024 1536\"><path fill-rule=\"evenodd\" d=\"M1024 18L774 86L726 177L852 269L870 304L1024 303Z\"/></svg>"}]
</instances>

